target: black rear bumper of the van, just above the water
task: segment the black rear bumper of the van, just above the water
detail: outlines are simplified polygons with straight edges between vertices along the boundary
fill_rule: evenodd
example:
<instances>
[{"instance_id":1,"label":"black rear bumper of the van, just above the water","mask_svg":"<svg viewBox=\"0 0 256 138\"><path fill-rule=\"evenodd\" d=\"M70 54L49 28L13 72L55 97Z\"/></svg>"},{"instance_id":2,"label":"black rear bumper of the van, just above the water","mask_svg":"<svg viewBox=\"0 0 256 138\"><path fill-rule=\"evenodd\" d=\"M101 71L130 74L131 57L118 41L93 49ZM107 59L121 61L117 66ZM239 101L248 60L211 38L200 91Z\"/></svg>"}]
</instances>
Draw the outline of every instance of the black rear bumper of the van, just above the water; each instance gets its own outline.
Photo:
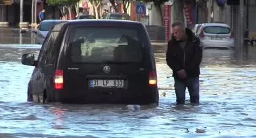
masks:
<instances>
[{"instance_id":1,"label":"black rear bumper of the van, just above the water","mask_svg":"<svg viewBox=\"0 0 256 138\"><path fill-rule=\"evenodd\" d=\"M54 91L55 102L60 103L107 103L107 104L158 104L158 88L150 88L146 92L65 92Z\"/></svg>"}]
</instances>

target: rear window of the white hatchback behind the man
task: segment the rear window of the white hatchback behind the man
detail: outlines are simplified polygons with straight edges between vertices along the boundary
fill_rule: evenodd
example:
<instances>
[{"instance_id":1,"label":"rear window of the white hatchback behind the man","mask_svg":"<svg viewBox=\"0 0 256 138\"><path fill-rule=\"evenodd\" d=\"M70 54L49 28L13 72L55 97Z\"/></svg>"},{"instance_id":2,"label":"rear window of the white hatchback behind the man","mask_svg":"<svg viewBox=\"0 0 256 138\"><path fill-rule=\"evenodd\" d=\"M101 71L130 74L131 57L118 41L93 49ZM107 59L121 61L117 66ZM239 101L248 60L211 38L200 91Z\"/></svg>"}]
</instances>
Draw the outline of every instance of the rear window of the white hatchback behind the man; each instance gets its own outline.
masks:
<instances>
[{"instance_id":1,"label":"rear window of the white hatchback behind the man","mask_svg":"<svg viewBox=\"0 0 256 138\"><path fill-rule=\"evenodd\" d=\"M205 33L213 33L213 34L228 34L230 33L229 27L224 26L206 26L203 28Z\"/></svg>"}]
</instances>

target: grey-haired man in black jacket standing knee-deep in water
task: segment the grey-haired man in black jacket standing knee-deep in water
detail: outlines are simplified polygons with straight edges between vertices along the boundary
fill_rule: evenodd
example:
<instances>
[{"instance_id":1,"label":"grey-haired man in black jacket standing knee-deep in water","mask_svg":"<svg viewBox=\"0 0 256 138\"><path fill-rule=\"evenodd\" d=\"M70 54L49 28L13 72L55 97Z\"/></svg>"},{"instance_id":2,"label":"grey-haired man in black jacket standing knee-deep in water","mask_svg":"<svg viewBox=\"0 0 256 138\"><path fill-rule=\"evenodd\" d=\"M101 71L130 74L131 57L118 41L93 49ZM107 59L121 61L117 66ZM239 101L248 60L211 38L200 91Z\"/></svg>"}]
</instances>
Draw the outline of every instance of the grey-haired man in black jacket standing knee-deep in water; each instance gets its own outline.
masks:
<instances>
[{"instance_id":1,"label":"grey-haired man in black jacket standing knee-deep in water","mask_svg":"<svg viewBox=\"0 0 256 138\"><path fill-rule=\"evenodd\" d=\"M199 75L202 61L200 39L182 22L171 25L173 33L168 42L166 61L173 70L177 105L185 104L186 88L192 105L199 104Z\"/></svg>"}]
</instances>

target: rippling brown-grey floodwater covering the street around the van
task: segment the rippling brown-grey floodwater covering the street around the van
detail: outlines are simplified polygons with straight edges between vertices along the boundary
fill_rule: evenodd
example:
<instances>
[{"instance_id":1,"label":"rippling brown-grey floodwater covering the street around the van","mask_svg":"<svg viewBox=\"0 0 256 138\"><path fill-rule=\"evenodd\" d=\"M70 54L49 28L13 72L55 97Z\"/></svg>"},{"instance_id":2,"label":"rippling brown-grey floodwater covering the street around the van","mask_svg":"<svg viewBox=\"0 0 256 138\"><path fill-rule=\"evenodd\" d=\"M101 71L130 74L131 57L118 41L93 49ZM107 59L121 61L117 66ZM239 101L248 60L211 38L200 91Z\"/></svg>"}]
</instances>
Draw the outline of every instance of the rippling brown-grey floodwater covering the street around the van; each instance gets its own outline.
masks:
<instances>
[{"instance_id":1,"label":"rippling brown-grey floodwater covering the street around the van","mask_svg":"<svg viewBox=\"0 0 256 138\"><path fill-rule=\"evenodd\" d=\"M126 105L27 102L33 67L22 65L21 56L41 48L31 38L18 29L0 31L0 137L256 137L256 46L240 57L233 50L204 50L201 103L194 107L175 106L164 44L154 44L160 105L131 111Z\"/></svg>"}]
</instances>

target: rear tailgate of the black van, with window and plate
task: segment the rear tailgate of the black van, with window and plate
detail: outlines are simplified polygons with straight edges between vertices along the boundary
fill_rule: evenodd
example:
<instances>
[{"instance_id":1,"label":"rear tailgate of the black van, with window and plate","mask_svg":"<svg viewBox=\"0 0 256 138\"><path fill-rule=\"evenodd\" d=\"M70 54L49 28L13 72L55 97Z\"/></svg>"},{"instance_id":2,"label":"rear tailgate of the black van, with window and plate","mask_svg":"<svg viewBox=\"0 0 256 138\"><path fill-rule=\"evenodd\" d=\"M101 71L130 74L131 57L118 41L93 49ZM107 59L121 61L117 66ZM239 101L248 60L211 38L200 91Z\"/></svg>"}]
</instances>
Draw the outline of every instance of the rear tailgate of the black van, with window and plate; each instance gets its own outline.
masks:
<instances>
[{"instance_id":1,"label":"rear tailgate of the black van, with window and plate","mask_svg":"<svg viewBox=\"0 0 256 138\"><path fill-rule=\"evenodd\" d=\"M64 69L68 97L102 100L100 97L108 95L110 100L142 95L147 88L149 67L139 30L74 27Z\"/></svg>"}]
</instances>

